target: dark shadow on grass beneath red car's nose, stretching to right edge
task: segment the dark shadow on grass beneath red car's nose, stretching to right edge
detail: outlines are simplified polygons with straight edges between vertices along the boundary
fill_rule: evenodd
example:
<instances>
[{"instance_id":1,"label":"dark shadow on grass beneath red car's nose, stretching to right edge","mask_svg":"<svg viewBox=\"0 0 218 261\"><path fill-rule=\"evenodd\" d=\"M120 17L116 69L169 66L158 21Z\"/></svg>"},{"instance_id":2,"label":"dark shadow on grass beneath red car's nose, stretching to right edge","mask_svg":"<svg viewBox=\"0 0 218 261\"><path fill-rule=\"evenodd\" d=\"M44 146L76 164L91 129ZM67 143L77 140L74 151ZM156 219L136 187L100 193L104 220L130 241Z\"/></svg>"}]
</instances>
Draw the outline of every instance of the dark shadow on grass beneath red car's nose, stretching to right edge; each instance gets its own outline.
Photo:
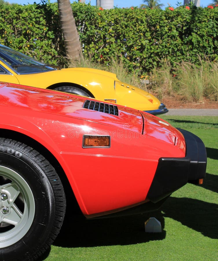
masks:
<instances>
[{"instance_id":1,"label":"dark shadow on grass beneath red car's nose, stretching to right edge","mask_svg":"<svg viewBox=\"0 0 218 261\"><path fill-rule=\"evenodd\" d=\"M203 235L217 239L215 229L218 205L190 198L169 197L161 211L119 218L86 220L83 216L67 215L54 245L59 247L96 247L128 245L162 240L166 237L164 218L172 218ZM144 222L155 217L161 222L162 233L145 233Z\"/></svg>"}]
</instances>

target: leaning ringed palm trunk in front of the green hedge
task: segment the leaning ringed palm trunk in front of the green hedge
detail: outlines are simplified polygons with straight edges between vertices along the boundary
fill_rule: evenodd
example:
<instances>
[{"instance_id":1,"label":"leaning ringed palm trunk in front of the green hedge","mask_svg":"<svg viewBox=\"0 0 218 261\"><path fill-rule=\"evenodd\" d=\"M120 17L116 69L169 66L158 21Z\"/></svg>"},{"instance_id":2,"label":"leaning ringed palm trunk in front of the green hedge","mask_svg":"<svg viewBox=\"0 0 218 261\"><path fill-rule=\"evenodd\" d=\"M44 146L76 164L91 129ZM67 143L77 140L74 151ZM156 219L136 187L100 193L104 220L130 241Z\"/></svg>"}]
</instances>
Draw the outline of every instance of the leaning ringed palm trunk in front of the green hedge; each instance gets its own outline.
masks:
<instances>
[{"instance_id":1,"label":"leaning ringed palm trunk in front of the green hedge","mask_svg":"<svg viewBox=\"0 0 218 261\"><path fill-rule=\"evenodd\" d=\"M67 57L70 61L80 61L82 51L70 1L58 0L58 10Z\"/></svg>"}]
</instances>

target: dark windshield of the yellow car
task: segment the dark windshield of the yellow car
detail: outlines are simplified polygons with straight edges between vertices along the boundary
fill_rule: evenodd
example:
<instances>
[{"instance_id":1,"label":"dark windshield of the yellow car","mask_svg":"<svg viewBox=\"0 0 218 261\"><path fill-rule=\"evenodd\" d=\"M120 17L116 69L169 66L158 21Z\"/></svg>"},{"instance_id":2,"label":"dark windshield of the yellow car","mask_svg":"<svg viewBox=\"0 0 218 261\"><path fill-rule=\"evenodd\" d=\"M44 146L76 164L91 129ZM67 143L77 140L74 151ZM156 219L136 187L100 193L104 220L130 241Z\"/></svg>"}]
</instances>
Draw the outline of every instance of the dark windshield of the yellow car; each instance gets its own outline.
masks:
<instances>
[{"instance_id":1,"label":"dark windshield of the yellow car","mask_svg":"<svg viewBox=\"0 0 218 261\"><path fill-rule=\"evenodd\" d=\"M0 58L19 74L41 73L44 71L55 70L42 62L36 61L21 52L17 52L3 45L0 45Z\"/></svg>"}]
</instances>

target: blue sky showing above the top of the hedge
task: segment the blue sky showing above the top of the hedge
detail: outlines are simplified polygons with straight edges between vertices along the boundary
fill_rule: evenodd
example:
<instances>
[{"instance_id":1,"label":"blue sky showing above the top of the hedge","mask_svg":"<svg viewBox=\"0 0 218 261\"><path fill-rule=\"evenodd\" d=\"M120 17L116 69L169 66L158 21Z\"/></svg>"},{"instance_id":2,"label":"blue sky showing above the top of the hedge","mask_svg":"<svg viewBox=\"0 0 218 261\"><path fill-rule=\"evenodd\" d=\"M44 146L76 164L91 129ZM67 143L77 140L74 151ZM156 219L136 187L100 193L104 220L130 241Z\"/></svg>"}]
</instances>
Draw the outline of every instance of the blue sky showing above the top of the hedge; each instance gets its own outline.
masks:
<instances>
[{"instance_id":1,"label":"blue sky showing above the top of the hedge","mask_svg":"<svg viewBox=\"0 0 218 261\"><path fill-rule=\"evenodd\" d=\"M34 2L40 3L40 0L6 0L9 3L18 3L18 4L32 4ZM51 0L51 2L55 2L56 0ZM70 0L73 2L73 0ZM164 4L164 8L168 6L168 3L173 6L177 7L177 3L182 2L184 0L160 0L159 3ZM213 0L200 0L200 6L205 7L211 4ZM86 0L86 3L89 3L89 0ZM114 0L114 6L117 6L119 8L122 7L131 7L131 6L140 6L143 3L143 0ZM96 5L96 0L91 0L91 5Z\"/></svg>"}]
</instances>

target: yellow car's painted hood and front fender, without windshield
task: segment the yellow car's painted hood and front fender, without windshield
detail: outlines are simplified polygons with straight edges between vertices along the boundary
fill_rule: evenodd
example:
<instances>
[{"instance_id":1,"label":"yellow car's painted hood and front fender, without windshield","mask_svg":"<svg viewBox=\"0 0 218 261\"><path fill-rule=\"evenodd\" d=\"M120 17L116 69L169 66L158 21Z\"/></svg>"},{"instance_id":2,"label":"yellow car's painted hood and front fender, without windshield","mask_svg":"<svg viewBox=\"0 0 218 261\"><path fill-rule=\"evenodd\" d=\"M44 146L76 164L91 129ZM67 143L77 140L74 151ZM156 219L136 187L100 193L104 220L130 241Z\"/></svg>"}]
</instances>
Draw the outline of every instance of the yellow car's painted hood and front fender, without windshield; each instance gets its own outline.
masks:
<instances>
[{"instance_id":1,"label":"yellow car's painted hood and front fender, without windshield","mask_svg":"<svg viewBox=\"0 0 218 261\"><path fill-rule=\"evenodd\" d=\"M138 110L156 110L160 101L153 95L117 79L116 74L91 68L66 68L42 73L13 75L16 81L27 86L54 89L76 86L89 90L97 100L113 102ZM3 79L2 79L3 81ZM18 81L18 82L17 82Z\"/></svg>"}]
</instances>

